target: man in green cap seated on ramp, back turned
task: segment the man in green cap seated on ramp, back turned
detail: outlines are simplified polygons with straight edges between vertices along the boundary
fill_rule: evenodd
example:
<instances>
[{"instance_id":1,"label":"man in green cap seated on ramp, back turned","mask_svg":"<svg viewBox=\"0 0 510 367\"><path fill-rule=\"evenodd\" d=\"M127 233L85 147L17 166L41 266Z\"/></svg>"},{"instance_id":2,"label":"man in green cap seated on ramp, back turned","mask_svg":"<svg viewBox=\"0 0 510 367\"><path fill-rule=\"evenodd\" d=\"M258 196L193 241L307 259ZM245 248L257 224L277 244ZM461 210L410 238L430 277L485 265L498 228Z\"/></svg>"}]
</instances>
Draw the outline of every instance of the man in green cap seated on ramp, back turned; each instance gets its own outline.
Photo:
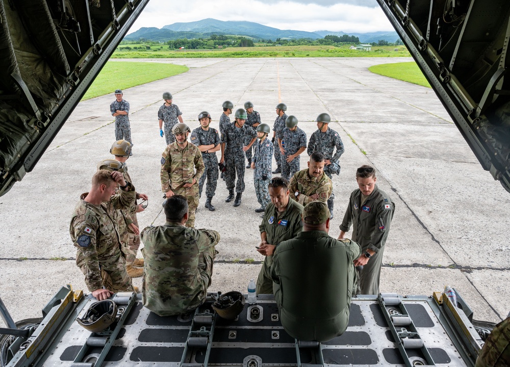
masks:
<instances>
[{"instance_id":1,"label":"man in green cap seated on ramp, back turned","mask_svg":"<svg viewBox=\"0 0 510 367\"><path fill-rule=\"evenodd\" d=\"M355 288L353 261L361 248L328 235L329 209L324 202L307 204L302 219L302 232L274 251L274 300L290 336L325 342L347 328Z\"/></svg>"}]
</instances>

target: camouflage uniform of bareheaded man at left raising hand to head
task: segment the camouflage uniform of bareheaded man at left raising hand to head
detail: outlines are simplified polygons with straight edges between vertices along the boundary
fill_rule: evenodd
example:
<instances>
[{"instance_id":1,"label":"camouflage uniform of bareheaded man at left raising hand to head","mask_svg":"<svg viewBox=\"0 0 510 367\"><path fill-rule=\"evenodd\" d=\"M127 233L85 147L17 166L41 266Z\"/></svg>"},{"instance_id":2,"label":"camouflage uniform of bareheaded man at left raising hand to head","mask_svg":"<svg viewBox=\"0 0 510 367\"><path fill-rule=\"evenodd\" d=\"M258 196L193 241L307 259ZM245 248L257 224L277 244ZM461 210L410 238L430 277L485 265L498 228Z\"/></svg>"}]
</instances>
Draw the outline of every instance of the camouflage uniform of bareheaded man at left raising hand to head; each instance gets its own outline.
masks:
<instances>
[{"instance_id":1,"label":"camouflage uniform of bareheaded man at left raising hand to head","mask_svg":"<svg viewBox=\"0 0 510 367\"><path fill-rule=\"evenodd\" d=\"M109 202L93 205L80 197L74 208L69 233L76 252L76 264L85 275L89 291L105 287L112 292L133 291L131 278L125 269L122 255L119 209L129 209L135 200L135 188L120 191Z\"/></svg>"}]
</instances>

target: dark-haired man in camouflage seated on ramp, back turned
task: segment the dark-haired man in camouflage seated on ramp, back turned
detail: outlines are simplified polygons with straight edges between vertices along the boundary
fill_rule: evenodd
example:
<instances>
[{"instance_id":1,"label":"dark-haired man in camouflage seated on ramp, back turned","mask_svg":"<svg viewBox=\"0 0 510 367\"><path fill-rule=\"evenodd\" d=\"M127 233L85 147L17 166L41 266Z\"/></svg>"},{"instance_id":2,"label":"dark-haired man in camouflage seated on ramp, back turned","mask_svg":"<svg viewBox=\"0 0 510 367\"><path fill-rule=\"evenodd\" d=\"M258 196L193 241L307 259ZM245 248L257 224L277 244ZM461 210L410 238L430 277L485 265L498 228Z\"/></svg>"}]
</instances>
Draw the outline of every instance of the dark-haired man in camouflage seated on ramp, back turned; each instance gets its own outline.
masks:
<instances>
[{"instance_id":1,"label":"dark-haired man in camouflage seated on ramp, back turned","mask_svg":"<svg viewBox=\"0 0 510 367\"><path fill-rule=\"evenodd\" d=\"M206 300L220 235L184 226L188 204L182 195L173 195L164 208L166 223L142 231L142 296L149 310L171 316L192 311Z\"/></svg>"}]
</instances>

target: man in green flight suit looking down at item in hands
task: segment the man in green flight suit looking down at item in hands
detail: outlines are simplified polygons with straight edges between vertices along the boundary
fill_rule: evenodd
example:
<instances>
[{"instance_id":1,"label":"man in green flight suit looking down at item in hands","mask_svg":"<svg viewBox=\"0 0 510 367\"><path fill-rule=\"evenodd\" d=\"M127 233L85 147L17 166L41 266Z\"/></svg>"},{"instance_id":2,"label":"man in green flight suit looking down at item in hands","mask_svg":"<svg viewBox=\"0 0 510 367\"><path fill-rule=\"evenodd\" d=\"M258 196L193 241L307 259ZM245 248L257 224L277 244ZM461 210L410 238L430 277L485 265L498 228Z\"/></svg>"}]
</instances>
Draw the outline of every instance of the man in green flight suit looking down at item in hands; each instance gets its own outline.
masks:
<instances>
[{"instance_id":1,"label":"man in green flight suit looking down at item in hands","mask_svg":"<svg viewBox=\"0 0 510 367\"><path fill-rule=\"evenodd\" d=\"M257 279L257 294L273 292L271 264L278 243L297 236L303 228L301 213L303 206L289 197L289 182L282 177L269 180L271 203L266 206L259 226L261 243L257 251L264 255L264 262Z\"/></svg>"}]
</instances>

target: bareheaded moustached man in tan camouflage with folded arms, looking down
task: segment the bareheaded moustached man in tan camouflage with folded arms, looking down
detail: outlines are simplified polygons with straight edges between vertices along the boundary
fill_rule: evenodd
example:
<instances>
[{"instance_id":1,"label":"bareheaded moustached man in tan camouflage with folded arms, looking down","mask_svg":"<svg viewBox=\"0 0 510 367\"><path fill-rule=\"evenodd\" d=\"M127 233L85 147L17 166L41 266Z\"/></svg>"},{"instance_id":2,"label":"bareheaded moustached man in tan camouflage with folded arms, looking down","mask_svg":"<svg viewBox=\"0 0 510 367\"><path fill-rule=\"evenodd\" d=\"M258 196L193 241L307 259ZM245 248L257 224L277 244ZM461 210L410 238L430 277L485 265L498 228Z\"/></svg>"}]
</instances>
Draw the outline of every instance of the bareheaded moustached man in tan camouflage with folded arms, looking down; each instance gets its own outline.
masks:
<instances>
[{"instance_id":1,"label":"bareheaded moustached man in tan camouflage with folded arms, looking down","mask_svg":"<svg viewBox=\"0 0 510 367\"><path fill-rule=\"evenodd\" d=\"M315 152L310 156L308 168L296 172L290 180L290 196L302 206L313 201L327 202L333 183L324 173L324 155Z\"/></svg>"}]
</instances>

